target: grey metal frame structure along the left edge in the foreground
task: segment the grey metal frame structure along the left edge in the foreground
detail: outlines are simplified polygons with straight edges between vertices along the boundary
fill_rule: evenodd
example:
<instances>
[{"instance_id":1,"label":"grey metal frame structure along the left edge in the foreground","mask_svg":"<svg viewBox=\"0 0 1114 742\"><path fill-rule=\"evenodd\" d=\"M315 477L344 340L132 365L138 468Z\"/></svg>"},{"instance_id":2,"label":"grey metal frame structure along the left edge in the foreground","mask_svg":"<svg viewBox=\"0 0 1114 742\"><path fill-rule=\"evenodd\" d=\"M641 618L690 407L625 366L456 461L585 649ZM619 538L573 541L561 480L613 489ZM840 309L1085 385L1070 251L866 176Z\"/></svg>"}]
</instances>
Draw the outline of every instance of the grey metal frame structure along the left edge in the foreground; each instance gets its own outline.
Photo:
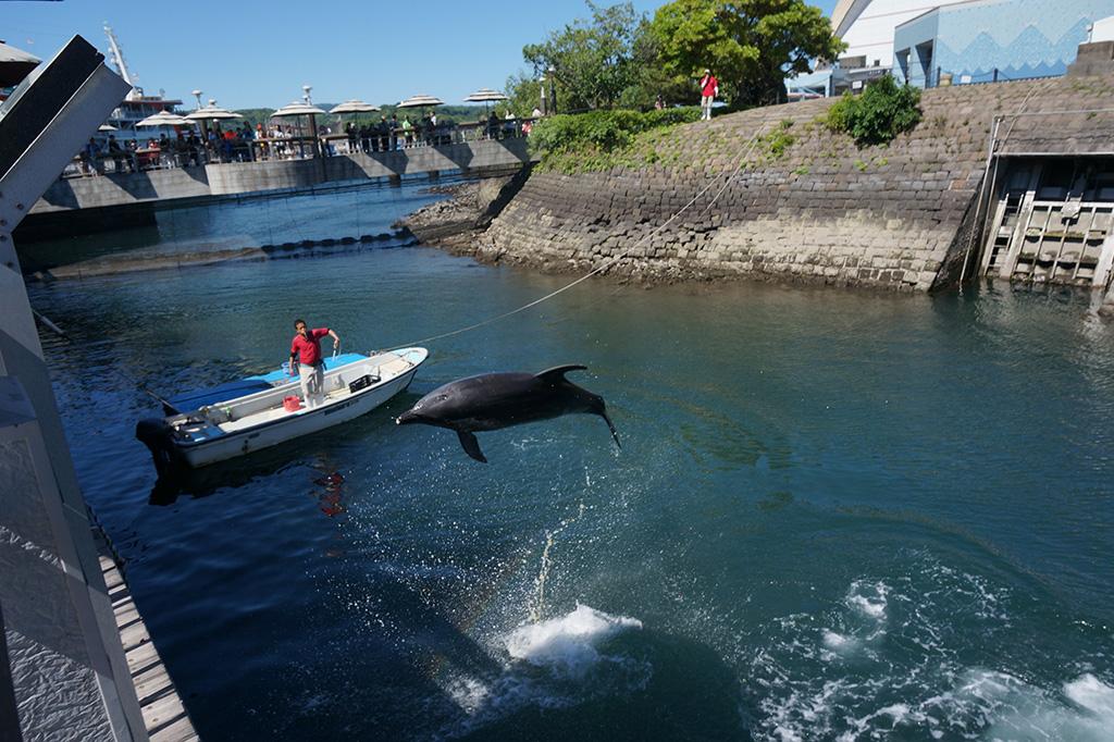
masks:
<instances>
[{"instance_id":1,"label":"grey metal frame structure along the left edge in the foreground","mask_svg":"<svg viewBox=\"0 0 1114 742\"><path fill-rule=\"evenodd\" d=\"M0 473L23 482L0 491L2 540L21 547L0 545L8 567L0 568L8 647L0 672L10 680L0 690L11 689L20 715L16 739L49 736L60 725L82 738L147 739L12 242L129 90L76 36L0 106ZM53 606L46 625L43 602ZM13 643L25 650L18 657ZM56 696L35 697L43 682ZM10 733L0 729L4 739Z\"/></svg>"}]
</instances>

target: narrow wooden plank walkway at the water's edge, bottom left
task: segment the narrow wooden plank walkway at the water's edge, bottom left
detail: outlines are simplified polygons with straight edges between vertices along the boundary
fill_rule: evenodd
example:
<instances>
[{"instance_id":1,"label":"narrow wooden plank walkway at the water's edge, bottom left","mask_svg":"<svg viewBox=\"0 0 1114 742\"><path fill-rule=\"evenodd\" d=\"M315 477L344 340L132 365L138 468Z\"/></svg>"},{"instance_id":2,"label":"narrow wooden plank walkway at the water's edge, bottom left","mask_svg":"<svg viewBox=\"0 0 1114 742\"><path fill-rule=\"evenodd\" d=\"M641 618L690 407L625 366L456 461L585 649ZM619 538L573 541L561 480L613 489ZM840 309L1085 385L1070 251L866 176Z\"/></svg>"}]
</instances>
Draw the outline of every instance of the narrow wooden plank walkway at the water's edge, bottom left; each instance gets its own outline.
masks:
<instances>
[{"instance_id":1,"label":"narrow wooden plank walkway at the water's edge, bottom left","mask_svg":"<svg viewBox=\"0 0 1114 742\"><path fill-rule=\"evenodd\" d=\"M128 661L128 672L139 696L144 724L152 742L197 742L199 739L189 714L182 705L178 691L174 687L163 660L150 641L143 617L131 599L131 592L124 582L116 563L100 554L100 569L108 587L108 598L116 614L116 628L120 632L124 655Z\"/></svg>"}]
</instances>

